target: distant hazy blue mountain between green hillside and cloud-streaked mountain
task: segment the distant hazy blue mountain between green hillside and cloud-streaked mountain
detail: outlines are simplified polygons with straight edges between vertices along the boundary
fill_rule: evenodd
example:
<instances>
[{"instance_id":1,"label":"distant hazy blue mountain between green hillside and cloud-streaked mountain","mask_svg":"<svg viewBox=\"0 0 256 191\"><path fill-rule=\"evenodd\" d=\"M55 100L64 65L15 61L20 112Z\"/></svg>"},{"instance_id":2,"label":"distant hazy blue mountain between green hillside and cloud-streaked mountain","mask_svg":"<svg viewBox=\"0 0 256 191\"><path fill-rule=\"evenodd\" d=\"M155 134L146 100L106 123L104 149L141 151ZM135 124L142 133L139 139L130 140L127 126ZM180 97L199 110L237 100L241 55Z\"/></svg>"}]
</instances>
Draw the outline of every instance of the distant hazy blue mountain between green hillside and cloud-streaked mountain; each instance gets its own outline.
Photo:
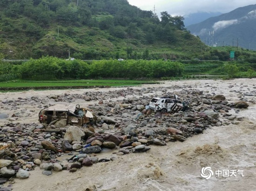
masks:
<instances>
[{"instance_id":1,"label":"distant hazy blue mountain between green hillside and cloud-streaked mountain","mask_svg":"<svg viewBox=\"0 0 256 191\"><path fill-rule=\"evenodd\" d=\"M184 25L185 27L189 26L189 25L193 25L193 24L197 24L200 23L210 17L215 17L215 16L219 16L222 13L220 12L198 12L198 13L191 13L188 15L184 15Z\"/></svg>"}]
</instances>

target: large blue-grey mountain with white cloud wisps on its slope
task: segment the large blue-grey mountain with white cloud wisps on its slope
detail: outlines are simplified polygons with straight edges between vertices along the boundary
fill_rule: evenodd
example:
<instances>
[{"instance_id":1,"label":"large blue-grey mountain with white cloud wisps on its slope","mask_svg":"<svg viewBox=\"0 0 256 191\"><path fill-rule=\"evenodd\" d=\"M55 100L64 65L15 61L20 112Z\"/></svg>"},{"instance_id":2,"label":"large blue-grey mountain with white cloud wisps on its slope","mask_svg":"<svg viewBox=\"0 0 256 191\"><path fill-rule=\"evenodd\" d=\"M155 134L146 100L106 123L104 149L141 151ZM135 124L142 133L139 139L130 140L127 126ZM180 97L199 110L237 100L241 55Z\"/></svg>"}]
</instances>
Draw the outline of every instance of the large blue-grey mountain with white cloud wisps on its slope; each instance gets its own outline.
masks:
<instances>
[{"instance_id":1,"label":"large blue-grey mountain with white cloud wisps on its slope","mask_svg":"<svg viewBox=\"0 0 256 191\"><path fill-rule=\"evenodd\" d=\"M239 7L211 17L187 29L207 45L234 46L256 50L256 5Z\"/></svg>"}]
</instances>

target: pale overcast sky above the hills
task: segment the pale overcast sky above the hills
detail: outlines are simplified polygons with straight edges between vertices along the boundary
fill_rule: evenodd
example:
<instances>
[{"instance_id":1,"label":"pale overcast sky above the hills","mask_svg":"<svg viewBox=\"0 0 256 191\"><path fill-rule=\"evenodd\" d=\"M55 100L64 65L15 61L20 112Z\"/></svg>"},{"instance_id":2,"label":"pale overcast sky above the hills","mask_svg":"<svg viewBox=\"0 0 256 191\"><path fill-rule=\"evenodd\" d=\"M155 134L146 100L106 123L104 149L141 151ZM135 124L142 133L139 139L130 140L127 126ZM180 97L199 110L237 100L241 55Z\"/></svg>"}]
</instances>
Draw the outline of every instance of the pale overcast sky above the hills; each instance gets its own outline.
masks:
<instances>
[{"instance_id":1,"label":"pale overcast sky above the hills","mask_svg":"<svg viewBox=\"0 0 256 191\"><path fill-rule=\"evenodd\" d=\"M153 11L160 17L160 13L167 11L170 15L184 16L197 12L229 13L241 6L256 4L256 0L128 0L130 5L141 10Z\"/></svg>"}]
</instances>

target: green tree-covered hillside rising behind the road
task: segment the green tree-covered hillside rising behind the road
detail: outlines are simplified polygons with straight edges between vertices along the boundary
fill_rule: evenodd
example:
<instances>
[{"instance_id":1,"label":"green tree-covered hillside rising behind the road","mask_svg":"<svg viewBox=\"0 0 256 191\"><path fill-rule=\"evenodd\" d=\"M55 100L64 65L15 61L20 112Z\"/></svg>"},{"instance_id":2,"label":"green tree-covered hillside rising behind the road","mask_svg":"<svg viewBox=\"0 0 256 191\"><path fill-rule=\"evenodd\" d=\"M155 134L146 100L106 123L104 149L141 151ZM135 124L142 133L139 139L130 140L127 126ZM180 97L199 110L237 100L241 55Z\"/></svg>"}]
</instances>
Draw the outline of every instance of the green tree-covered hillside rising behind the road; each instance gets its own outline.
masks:
<instances>
[{"instance_id":1,"label":"green tree-covered hillside rising behind the road","mask_svg":"<svg viewBox=\"0 0 256 191\"><path fill-rule=\"evenodd\" d=\"M77 59L188 59L202 51L182 16L127 0L0 0L0 54Z\"/></svg>"}]
</instances>

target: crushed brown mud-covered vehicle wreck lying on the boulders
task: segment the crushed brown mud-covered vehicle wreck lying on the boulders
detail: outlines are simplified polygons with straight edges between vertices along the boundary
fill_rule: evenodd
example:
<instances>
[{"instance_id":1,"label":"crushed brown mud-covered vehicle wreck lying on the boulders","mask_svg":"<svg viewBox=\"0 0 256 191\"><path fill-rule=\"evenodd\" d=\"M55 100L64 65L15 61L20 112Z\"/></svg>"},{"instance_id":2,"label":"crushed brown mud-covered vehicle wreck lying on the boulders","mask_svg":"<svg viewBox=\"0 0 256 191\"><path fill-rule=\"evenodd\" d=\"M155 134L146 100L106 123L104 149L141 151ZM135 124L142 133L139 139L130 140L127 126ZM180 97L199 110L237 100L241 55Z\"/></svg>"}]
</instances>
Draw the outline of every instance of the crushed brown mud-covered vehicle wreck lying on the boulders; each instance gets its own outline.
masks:
<instances>
[{"instance_id":1,"label":"crushed brown mud-covered vehicle wreck lying on the boulders","mask_svg":"<svg viewBox=\"0 0 256 191\"><path fill-rule=\"evenodd\" d=\"M52 106L44 108L39 112L39 122L47 125L55 124L57 121L64 120L66 124L75 126L93 125L97 117L88 109L76 106Z\"/></svg>"}]
</instances>

